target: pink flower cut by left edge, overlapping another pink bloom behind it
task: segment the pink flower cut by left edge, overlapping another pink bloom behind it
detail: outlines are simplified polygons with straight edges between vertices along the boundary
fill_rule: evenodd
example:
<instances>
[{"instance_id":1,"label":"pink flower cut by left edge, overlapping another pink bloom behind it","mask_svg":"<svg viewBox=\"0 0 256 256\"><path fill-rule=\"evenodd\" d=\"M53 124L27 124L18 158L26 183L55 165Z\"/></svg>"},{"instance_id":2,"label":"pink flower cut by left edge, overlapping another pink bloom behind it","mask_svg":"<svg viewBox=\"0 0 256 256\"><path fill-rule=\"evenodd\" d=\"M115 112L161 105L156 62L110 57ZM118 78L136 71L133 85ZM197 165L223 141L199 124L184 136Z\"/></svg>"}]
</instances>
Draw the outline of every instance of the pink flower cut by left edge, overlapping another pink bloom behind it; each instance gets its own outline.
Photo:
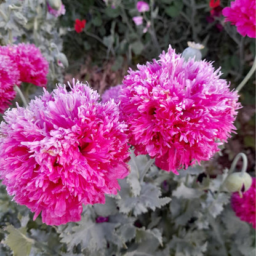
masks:
<instances>
[{"instance_id":1,"label":"pink flower cut by left edge, overlapping another pink bloom behind it","mask_svg":"<svg viewBox=\"0 0 256 256\"><path fill-rule=\"evenodd\" d=\"M0 55L0 63L0 113L4 113L15 98L14 86L20 84L20 73L9 56Z\"/></svg>"}]
</instances>

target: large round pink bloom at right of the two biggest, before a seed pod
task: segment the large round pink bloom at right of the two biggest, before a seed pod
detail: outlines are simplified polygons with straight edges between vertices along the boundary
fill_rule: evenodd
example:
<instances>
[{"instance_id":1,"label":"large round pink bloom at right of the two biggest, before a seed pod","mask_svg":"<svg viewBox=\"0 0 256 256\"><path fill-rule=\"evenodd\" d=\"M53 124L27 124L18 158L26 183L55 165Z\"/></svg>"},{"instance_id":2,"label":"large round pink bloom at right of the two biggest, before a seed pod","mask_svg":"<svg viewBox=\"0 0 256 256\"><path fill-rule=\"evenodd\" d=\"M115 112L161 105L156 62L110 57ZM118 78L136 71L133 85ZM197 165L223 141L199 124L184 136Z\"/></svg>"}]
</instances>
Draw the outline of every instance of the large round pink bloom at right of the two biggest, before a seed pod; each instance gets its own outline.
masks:
<instances>
[{"instance_id":1,"label":"large round pink bloom at right of the two biggest, before a seed pod","mask_svg":"<svg viewBox=\"0 0 256 256\"><path fill-rule=\"evenodd\" d=\"M135 154L149 154L156 166L178 174L219 151L236 129L240 104L212 63L185 62L172 47L159 57L128 71L120 108Z\"/></svg>"}]
</instances>

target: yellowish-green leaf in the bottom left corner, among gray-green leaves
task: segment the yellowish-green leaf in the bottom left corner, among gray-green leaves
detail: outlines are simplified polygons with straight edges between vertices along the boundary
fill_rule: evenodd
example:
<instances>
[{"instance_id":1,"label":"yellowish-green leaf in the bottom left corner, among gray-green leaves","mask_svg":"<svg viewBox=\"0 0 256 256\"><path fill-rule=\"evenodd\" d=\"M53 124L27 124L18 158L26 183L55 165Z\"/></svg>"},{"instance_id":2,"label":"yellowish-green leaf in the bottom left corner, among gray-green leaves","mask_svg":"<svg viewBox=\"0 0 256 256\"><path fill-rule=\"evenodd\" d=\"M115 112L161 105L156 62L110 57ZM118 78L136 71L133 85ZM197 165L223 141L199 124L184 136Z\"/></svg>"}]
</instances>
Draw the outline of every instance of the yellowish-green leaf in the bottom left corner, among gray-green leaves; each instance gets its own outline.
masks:
<instances>
[{"instance_id":1,"label":"yellowish-green leaf in the bottom left corner, among gray-green leaves","mask_svg":"<svg viewBox=\"0 0 256 256\"><path fill-rule=\"evenodd\" d=\"M14 256L29 255L34 240L26 236L26 228L17 229L12 225L8 225L6 230L9 232L9 235L4 243L12 249Z\"/></svg>"}]
</instances>

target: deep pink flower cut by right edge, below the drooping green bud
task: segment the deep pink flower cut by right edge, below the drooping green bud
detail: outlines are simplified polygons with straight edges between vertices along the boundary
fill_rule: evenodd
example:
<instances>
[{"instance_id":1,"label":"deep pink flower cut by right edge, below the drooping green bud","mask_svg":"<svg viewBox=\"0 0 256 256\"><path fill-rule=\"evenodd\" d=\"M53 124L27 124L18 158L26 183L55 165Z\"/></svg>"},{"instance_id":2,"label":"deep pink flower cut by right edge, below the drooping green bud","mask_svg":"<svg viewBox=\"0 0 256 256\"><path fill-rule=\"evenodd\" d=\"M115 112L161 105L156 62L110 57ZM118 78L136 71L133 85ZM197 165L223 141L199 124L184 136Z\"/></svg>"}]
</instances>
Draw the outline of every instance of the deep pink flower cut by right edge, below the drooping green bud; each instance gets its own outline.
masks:
<instances>
[{"instance_id":1,"label":"deep pink flower cut by right edge, below the drooping green bud","mask_svg":"<svg viewBox=\"0 0 256 256\"><path fill-rule=\"evenodd\" d=\"M256 204L255 204L255 178L252 178L252 185L249 190L242 194L240 198L239 193L233 193L231 197L231 206L236 213L236 216L243 222L248 222L256 228Z\"/></svg>"}]
</instances>

